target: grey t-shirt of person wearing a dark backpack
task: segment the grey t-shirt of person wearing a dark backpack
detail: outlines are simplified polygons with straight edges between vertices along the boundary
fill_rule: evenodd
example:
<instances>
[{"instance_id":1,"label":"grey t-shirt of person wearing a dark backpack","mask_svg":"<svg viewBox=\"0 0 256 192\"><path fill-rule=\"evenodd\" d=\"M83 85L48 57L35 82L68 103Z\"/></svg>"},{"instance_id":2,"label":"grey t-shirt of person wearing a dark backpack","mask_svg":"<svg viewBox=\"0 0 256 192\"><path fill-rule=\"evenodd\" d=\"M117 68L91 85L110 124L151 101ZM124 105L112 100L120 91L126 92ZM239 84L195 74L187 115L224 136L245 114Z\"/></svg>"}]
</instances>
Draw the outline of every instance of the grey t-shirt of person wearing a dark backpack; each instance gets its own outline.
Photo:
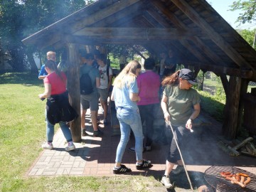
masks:
<instances>
[{"instance_id":1,"label":"grey t-shirt of person wearing a dark backpack","mask_svg":"<svg viewBox=\"0 0 256 192\"><path fill-rule=\"evenodd\" d=\"M85 73L89 73L89 76L92 80L93 92L97 92L96 78L100 78L99 70L97 68L93 68L92 65L84 64L80 67L80 78Z\"/></svg>"}]
</instances>

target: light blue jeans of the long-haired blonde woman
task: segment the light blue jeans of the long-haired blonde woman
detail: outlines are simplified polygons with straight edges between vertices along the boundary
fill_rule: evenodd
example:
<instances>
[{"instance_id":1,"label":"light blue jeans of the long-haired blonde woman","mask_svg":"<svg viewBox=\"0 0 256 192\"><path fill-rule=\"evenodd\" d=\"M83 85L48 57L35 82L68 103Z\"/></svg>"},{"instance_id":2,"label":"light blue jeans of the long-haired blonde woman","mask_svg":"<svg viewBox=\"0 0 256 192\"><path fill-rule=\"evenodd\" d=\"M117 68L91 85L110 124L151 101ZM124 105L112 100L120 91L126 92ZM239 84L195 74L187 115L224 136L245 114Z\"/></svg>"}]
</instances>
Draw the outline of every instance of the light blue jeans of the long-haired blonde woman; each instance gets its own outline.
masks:
<instances>
[{"instance_id":1,"label":"light blue jeans of the long-haired blonde woman","mask_svg":"<svg viewBox=\"0 0 256 192\"><path fill-rule=\"evenodd\" d=\"M142 121L139 115L139 110L129 110L122 107L117 108L117 119L120 124L121 138L117 146L116 162L122 162L122 156L124 150L129 142L129 136L131 129L134 132L135 137L135 152L136 159L142 160L143 151L143 132L142 132Z\"/></svg>"}]
</instances>

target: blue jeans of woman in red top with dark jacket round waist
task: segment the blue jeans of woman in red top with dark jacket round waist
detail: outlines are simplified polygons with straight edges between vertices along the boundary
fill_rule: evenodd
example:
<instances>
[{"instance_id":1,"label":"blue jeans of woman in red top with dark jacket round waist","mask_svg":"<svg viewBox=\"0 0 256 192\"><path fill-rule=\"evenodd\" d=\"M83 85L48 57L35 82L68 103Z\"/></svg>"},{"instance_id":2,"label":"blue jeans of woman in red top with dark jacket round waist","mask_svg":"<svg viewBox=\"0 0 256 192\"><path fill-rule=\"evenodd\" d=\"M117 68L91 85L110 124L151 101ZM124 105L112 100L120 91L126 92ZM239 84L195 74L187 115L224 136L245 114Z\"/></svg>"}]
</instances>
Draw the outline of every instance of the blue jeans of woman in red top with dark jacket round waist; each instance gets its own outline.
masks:
<instances>
[{"instance_id":1,"label":"blue jeans of woman in red top with dark jacket round waist","mask_svg":"<svg viewBox=\"0 0 256 192\"><path fill-rule=\"evenodd\" d=\"M68 125L65 122L59 122L59 125L60 125L60 129L62 130L67 142L73 142L72 134L70 132ZM46 115L46 139L47 139L47 142L50 142L50 143L53 142L53 136L54 136L54 125L48 121L47 115Z\"/></svg>"}]
</instances>

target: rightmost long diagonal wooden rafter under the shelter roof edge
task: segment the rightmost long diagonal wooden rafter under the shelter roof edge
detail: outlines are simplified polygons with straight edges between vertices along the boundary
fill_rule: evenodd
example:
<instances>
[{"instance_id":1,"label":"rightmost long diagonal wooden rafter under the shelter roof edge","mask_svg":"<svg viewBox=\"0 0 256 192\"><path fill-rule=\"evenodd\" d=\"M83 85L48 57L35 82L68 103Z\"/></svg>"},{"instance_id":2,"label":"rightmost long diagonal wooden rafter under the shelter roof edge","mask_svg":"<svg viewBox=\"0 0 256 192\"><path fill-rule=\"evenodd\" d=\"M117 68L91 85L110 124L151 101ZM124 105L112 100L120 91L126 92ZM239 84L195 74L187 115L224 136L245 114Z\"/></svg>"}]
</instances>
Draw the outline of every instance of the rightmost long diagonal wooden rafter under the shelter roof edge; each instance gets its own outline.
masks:
<instances>
[{"instance_id":1,"label":"rightmost long diagonal wooden rafter under the shelter roof edge","mask_svg":"<svg viewBox=\"0 0 256 192\"><path fill-rule=\"evenodd\" d=\"M206 31L208 36L211 38L215 44L221 48L238 66L247 65L247 67L252 68L250 63L247 63L245 58L242 56L228 44L225 39L223 39L215 30L203 19L201 16L184 0L171 0L178 9L181 9L188 18L191 19L197 26Z\"/></svg>"}]
</instances>

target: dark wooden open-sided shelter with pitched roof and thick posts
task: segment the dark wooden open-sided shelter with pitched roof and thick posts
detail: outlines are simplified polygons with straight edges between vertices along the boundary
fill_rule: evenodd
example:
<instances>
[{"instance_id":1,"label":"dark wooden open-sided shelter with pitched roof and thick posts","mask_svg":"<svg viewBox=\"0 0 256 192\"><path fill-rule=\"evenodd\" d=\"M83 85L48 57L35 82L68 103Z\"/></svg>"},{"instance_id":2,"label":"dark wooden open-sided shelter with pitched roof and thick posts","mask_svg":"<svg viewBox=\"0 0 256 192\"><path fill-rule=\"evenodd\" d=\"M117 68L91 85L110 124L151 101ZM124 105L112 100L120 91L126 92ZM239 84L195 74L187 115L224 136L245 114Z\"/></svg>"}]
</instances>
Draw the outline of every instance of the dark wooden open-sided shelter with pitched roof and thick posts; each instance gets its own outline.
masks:
<instances>
[{"instance_id":1,"label":"dark wooden open-sided shelter with pitched roof and thick posts","mask_svg":"<svg viewBox=\"0 0 256 192\"><path fill-rule=\"evenodd\" d=\"M256 80L256 51L205 0L100 0L43 28L26 45L67 46L70 102L80 111L78 45L129 44L151 53L176 51L178 63L219 75L225 89L223 132L233 139L242 120L242 95ZM227 75L229 75L227 77ZM80 141L80 119L72 124Z\"/></svg>"}]
</instances>

